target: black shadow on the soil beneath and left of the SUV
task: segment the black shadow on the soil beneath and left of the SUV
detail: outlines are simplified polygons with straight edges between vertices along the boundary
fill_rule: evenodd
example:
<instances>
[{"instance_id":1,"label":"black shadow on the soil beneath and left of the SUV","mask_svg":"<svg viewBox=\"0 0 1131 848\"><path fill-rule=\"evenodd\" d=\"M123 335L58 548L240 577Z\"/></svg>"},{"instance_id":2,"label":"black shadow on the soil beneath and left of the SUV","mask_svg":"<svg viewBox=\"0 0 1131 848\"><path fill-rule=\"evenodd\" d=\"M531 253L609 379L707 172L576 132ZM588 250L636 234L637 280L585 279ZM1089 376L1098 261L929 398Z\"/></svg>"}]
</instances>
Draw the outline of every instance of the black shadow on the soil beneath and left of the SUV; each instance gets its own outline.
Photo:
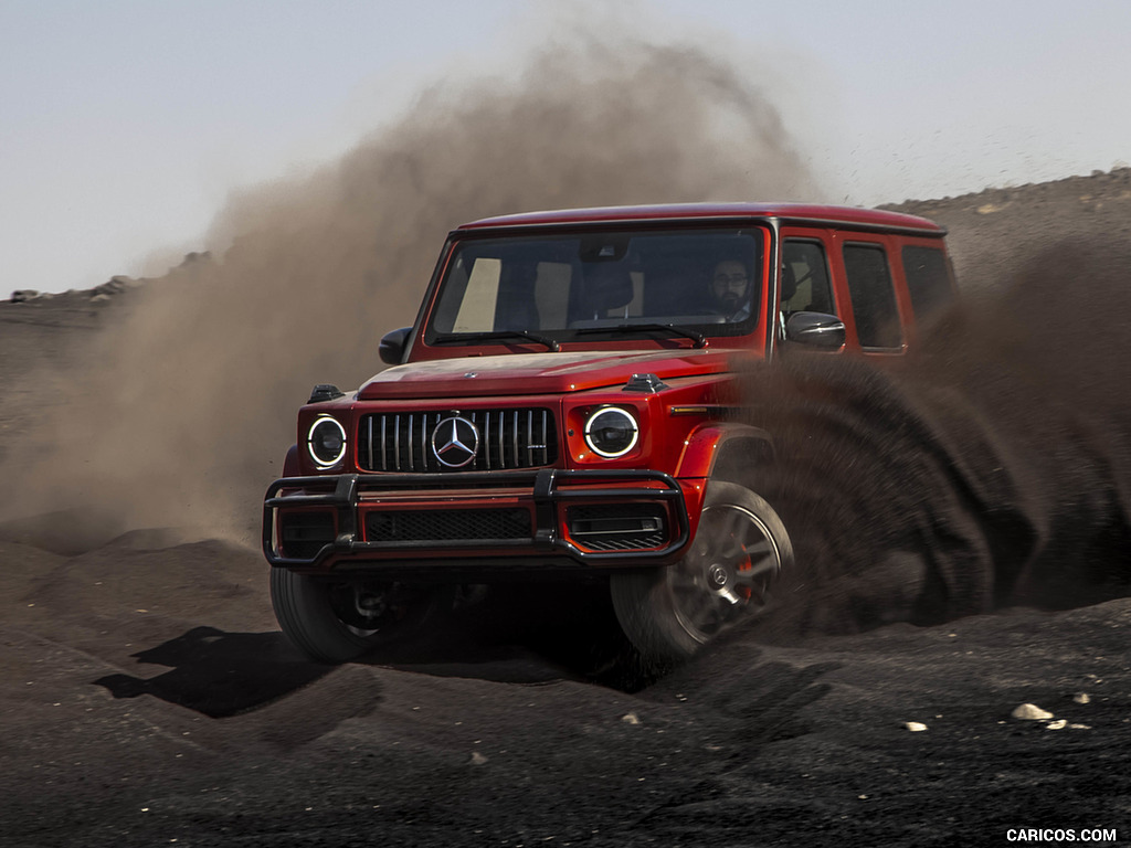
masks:
<instances>
[{"instance_id":1,"label":"black shadow on the soil beneath and left of the SUV","mask_svg":"<svg viewBox=\"0 0 1131 848\"><path fill-rule=\"evenodd\" d=\"M359 657L352 665L437 677L537 684L570 680L636 691L656 678L601 604L570 607L529 603L525 590L498 592L491 603L446 621L422 638ZM569 612L563 612L569 607ZM210 718L251 712L331 674L307 659L282 633L230 633L192 628L131 655L165 666L152 677L110 674L94 681L115 699L153 695Z\"/></svg>"}]
</instances>

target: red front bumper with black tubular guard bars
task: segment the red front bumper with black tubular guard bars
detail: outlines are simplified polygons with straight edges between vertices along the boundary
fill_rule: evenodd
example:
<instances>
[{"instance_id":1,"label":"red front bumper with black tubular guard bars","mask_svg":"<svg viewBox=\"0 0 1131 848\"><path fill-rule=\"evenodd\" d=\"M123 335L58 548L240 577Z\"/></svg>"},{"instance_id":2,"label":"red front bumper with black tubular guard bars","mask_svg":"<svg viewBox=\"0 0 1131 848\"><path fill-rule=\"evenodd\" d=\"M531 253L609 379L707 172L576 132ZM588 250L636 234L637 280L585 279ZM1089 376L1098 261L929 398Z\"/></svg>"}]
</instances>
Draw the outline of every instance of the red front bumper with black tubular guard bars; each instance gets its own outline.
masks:
<instances>
[{"instance_id":1,"label":"red front bumper with black tubular guard bars","mask_svg":"<svg viewBox=\"0 0 1131 848\"><path fill-rule=\"evenodd\" d=\"M286 477L264 501L264 554L307 572L661 565L687 546L701 492L702 481L637 469Z\"/></svg>"}]
</instances>

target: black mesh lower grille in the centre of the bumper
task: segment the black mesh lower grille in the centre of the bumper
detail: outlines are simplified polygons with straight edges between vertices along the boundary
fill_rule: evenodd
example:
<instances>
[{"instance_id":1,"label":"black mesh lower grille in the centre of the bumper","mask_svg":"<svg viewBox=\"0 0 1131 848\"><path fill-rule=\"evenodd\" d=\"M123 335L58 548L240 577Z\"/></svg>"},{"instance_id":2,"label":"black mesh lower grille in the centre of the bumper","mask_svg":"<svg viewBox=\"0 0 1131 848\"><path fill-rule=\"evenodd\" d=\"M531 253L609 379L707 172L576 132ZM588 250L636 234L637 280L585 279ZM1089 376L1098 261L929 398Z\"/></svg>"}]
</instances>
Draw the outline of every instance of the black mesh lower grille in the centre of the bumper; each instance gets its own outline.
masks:
<instances>
[{"instance_id":1,"label":"black mesh lower grille in the centre of the bumper","mask_svg":"<svg viewBox=\"0 0 1131 848\"><path fill-rule=\"evenodd\" d=\"M366 542L530 538L530 513L507 510L390 510L365 516Z\"/></svg>"}]
</instances>

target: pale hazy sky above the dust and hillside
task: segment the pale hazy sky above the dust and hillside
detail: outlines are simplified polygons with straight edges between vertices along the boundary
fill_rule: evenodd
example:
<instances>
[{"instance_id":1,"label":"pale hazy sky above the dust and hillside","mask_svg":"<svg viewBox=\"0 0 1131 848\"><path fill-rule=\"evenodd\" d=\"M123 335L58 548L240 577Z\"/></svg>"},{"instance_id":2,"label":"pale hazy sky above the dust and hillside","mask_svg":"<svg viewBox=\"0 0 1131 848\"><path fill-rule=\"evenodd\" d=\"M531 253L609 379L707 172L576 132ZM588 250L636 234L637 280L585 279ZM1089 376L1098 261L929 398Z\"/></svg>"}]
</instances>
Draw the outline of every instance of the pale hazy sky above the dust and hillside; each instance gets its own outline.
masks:
<instances>
[{"instance_id":1,"label":"pale hazy sky above the dust and hillside","mask_svg":"<svg viewBox=\"0 0 1131 848\"><path fill-rule=\"evenodd\" d=\"M0 0L0 298L201 249L230 192L334 159L430 83L518 67L553 6ZM760 75L837 200L1131 161L1129 0L615 6Z\"/></svg>"}]
</instances>

